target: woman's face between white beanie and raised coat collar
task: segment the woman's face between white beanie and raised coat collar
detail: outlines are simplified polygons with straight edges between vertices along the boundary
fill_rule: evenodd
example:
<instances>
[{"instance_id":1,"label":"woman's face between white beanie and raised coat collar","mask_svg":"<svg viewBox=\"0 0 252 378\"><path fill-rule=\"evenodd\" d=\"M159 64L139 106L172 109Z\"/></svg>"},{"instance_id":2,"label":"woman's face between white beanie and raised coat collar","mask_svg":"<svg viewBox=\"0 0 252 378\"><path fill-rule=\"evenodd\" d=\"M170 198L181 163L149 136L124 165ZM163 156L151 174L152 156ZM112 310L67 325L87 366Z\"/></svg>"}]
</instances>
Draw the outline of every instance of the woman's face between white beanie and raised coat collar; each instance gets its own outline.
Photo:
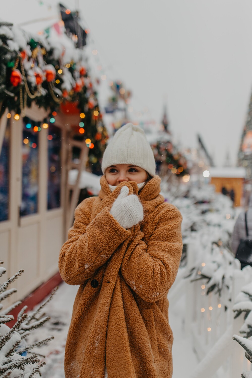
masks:
<instances>
[{"instance_id":1,"label":"woman's face between white beanie and raised coat collar","mask_svg":"<svg viewBox=\"0 0 252 378\"><path fill-rule=\"evenodd\" d=\"M117 186L122 181L135 181L137 184L147 180L146 170L128 164L116 164L105 171L105 178L109 185Z\"/></svg>"}]
</instances>

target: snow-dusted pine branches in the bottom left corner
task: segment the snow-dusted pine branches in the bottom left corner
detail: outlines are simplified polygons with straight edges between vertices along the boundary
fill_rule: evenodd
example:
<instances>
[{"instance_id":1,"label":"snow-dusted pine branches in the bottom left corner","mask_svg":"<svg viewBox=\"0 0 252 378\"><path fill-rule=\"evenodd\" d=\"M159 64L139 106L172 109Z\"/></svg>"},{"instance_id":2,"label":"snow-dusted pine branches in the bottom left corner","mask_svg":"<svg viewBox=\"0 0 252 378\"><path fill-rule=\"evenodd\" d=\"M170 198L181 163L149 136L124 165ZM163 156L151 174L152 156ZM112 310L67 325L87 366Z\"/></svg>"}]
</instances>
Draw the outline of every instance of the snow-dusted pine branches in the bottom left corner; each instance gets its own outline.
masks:
<instances>
[{"instance_id":1,"label":"snow-dusted pine branches in the bottom left corner","mask_svg":"<svg viewBox=\"0 0 252 378\"><path fill-rule=\"evenodd\" d=\"M0 265L3 261L0 261ZM6 269L0 267L0 277L6 273ZM29 334L36 328L41 327L50 318L45 313L39 314L42 308L51 300L51 296L36 311L26 314L27 306L24 306L17 316L17 321L12 328L6 323L14 320L9 313L17 307L21 302L15 302L10 307L3 309L2 301L15 293L17 290L8 286L14 282L23 270L18 271L14 276L6 282L0 284L0 377L2 378L32 378L40 373L40 368L45 364L40 362L40 358L44 357L34 352L33 349L45 345L53 339L53 336L31 345L28 344Z\"/></svg>"}]
</instances>

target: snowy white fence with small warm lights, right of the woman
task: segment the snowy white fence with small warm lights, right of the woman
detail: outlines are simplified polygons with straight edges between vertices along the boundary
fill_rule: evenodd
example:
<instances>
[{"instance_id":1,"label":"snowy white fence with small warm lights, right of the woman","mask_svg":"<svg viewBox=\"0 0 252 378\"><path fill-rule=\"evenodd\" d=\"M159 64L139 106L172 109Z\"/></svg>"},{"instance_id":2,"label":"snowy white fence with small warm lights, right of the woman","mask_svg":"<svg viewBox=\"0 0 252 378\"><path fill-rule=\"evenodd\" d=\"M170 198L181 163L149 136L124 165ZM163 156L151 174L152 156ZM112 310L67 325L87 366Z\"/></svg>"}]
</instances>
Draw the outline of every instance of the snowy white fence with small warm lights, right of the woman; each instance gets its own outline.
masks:
<instances>
[{"instance_id":1,"label":"snowy white fence with small warm lights, right of the woman","mask_svg":"<svg viewBox=\"0 0 252 378\"><path fill-rule=\"evenodd\" d=\"M192 243L188 245L183 276L194 266L195 248ZM206 280L190 282L190 277L184 279L181 276L169 293L171 306L186 294L185 332L192 339L199 361L190 378L238 378L243 370L251 369L252 364L246 359L244 349L232 339L233 334L239 335L244 322L243 314L234 319L232 310L235 297L246 284L239 264L234 269L231 293L223 288L221 297L213 292L207 295ZM225 308L227 303L229 305Z\"/></svg>"}]
</instances>

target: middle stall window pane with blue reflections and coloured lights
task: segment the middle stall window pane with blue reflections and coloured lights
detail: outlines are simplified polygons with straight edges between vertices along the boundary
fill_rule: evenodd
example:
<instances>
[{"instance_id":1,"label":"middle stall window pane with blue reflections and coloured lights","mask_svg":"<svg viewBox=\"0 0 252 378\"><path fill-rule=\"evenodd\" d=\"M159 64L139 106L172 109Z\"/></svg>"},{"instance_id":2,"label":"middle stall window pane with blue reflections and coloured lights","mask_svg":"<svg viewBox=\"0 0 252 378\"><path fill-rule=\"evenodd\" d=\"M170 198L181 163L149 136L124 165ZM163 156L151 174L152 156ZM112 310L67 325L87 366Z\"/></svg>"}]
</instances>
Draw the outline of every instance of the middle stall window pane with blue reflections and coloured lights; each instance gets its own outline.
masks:
<instances>
[{"instance_id":1,"label":"middle stall window pane with blue reflections and coloured lights","mask_svg":"<svg viewBox=\"0 0 252 378\"><path fill-rule=\"evenodd\" d=\"M39 131L34 131L35 126L37 123L23 119L21 216L38 212Z\"/></svg>"}]
</instances>

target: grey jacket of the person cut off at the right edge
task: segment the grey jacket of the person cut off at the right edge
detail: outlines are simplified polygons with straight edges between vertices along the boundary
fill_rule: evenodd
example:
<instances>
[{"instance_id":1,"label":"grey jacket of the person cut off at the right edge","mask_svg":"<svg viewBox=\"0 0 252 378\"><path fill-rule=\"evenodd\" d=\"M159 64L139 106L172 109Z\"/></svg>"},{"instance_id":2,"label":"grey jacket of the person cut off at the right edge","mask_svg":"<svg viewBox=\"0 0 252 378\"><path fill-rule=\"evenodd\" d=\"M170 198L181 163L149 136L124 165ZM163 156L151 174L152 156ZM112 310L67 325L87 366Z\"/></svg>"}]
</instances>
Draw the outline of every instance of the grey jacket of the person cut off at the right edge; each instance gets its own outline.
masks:
<instances>
[{"instance_id":1,"label":"grey jacket of the person cut off at the right edge","mask_svg":"<svg viewBox=\"0 0 252 378\"><path fill-rule=\"evenodd\" d=\"M247 210L247 228L249 231L248 239L252 239L252 195L249 198L249 206ZM234 255L237 252L238 245L241 239L246 239L246 226L245 226L245 211L242 211L235 223L232 235L232 249Z\"/></svg>"}]
</instances>

